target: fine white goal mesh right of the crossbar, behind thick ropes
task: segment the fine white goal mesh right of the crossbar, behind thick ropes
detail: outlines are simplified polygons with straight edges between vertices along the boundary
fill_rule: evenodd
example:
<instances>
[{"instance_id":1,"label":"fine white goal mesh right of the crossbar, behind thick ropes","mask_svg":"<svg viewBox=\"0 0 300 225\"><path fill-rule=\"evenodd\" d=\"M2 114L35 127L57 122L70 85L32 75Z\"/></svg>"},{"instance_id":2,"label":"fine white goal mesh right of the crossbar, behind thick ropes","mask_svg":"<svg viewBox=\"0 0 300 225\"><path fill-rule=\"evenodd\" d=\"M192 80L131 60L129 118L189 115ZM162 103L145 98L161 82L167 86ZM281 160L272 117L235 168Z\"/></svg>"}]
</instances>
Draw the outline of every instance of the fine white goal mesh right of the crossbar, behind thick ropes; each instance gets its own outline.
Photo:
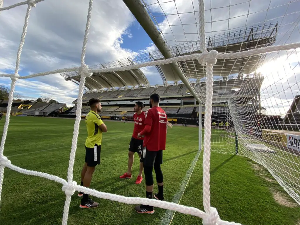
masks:
<instances>
[{"instance_id":1,"label":"fine white goal mesh right of the crossbar, behind thick ropes","mask_svg":"<svg viewBox=\"0 0 300 225\"><path fill-rule=\"evenodd\" d=\"M196 1L143 0L143 4L174 56L203 52L203 46L195 41L205 38L200 36L201 29L195 32L203 26L203 20L195 16ZM296 43L300 38L300 1L204 4L208 51L224 55L249 52ZM213 66L211 115L211 151L236 152L263 165L298 204L299 61L299 49L218 58ZM180 61L179 65L199 100L207 101L205 68L192 60ZM204 112L204 107L200 111Z\"/></svg>"}]
</instances>

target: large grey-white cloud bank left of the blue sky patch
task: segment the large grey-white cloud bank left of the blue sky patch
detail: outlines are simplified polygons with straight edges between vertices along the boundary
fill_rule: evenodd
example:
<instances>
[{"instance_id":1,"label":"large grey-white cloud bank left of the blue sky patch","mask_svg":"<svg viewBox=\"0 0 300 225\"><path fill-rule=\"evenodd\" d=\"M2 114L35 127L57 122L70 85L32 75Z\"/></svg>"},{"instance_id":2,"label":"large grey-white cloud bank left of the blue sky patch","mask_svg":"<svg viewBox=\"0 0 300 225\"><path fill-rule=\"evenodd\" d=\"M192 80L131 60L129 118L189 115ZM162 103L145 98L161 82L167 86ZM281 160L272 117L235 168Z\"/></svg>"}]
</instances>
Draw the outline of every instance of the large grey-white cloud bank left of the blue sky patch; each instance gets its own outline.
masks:
<instances>
[{"instance_id":1,"label":"large grey-white cloud bank left of the blue sky patch","mask_svg":"<svg viewBox=\"0 0 300 225\"><path fill-rule=\"evenodd\" d=\"M4 7L17 2L4 1ZM1 13L0 73L13 73L15 69L26 8L23 5ZM46 0L32 8L19 73L28 75L79 66L87 11L88 1L82 0ZM122 0L94 1L85 63L93 65L136 54L121 46L124 35L132 38L128 28L133 21ZM51 95L66 103L77 98L78 87L59 74L19 80L17 85L28 96Z\"/></svg>"}]
</instances>

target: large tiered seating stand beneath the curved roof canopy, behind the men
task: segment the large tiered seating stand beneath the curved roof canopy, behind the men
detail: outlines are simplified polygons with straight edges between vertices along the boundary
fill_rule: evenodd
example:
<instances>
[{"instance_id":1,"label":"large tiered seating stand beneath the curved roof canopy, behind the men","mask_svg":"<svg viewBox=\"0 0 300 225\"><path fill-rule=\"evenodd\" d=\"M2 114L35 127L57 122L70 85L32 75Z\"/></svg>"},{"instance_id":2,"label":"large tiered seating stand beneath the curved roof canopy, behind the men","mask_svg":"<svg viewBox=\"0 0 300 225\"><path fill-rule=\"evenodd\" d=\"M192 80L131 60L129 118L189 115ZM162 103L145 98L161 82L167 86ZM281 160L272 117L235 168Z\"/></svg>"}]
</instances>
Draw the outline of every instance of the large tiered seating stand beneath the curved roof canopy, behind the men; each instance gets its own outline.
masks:
<instances>
[{"instance_id":1,"label":"large tiered seating stand beneath the curved roof canopy, behind the men","mask_svg":"<svg viewBox=\"0 0 300 225\"><path fill-rule=\"evenodd\" d=\"M241 96L241 104L235 106L241 115L258 115L259 112L264 112L262 107L259 107L257 102L254 103L253 99L259 94L259 88L262 83L260 76L250 78L230 78L230 79L217 79L214 80L214 98L219 101L212 107L212 122L229 122L232 125L229 107L227 102L223 99L228 99L232 96L239 98ZM205 81L194 82L191 84L203 96L206 94ZM255 87L255 88L253 88ZM152 85L149 87L139 86L134 88L125 87L114 90L98 90L92 93L85 93L83 95L82 115L89 111L88 100L90 98L99 98L102 104L102 112L100 113L104 119L122 119L127 118L131 120L134 115L134 104L136 101L142 101L144 104L143 111L149 109L149 96L152 93L158 93L161 97L160 106L165 110L170 120L175 119L177 123L185 122L187 124L196 125L196 120L199 119L199 104L195 98L190 94L190 91L182 83L168 83L167 86ZM202 90L202 91L200 91ZM215 99L214 99L215 100ZM77 99L73 101L77 104ZM298 104L298 102L297 102ZM259 110L260 108L260 110ZM202 105L202 113L205 111L205 106ZM60 113L60 116L75 117L76 107ZM275 119L274 119L275 118ZM279 119L274 117L273 120L278 123ZM244 119L247 119L245 117ZM299 116L300 119L300 116ZM204 124L204 116L202 116L202 125Z\"/></svg>"}]
</instances>

